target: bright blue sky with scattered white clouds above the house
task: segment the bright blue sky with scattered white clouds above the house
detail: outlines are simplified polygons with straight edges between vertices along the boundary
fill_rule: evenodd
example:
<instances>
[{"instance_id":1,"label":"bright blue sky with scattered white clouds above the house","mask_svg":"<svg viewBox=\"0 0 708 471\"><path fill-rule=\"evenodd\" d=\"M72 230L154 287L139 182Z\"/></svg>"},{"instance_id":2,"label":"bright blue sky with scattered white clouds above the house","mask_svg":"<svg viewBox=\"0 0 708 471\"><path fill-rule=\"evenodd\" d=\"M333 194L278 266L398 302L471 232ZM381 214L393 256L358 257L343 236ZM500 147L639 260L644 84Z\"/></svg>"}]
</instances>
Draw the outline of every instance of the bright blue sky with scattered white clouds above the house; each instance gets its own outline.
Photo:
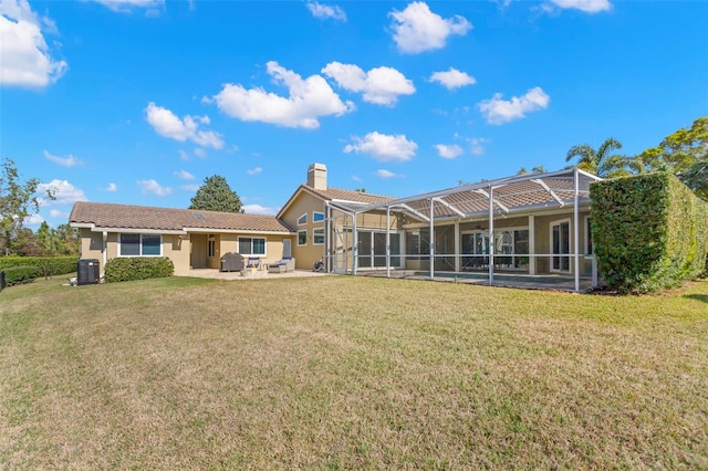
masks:
<instances>
[{"instance_id":1,"label":"bright blue sky with scattered white clouds above the house","mask_svg":"<svg viewBox=\"0 0 708 471\"><path fill-rule=\"evenodd\" d=\"M708 114L706 1L0 0L0 157L76 200L187 208L220 175L273 214L635 155Z\"/></svg>"}]
</instances>

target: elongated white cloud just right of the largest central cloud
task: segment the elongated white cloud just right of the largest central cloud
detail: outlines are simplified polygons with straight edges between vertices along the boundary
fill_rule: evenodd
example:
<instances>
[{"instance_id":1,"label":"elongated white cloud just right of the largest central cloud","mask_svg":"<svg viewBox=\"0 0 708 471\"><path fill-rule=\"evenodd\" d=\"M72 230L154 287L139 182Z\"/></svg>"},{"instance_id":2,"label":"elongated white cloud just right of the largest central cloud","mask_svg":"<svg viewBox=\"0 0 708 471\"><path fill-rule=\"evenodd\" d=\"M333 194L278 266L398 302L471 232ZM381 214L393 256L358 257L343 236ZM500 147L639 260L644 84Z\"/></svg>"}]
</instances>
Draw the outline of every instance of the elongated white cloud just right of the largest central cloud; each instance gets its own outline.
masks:
<instances>
[{"instance_id":1,"label":"elongated white cloud just right of the largest central cloud","mask_svg":"<svg viewBox=\"0 0 708 471\"><path fill-rule=\"evenodd\" d=\"M393 105L398 95L413 95L416 87L413 81L393 67L376 67L364 72L354 64L330 62L322 73L342 88L350 92L363 92L364 101L377 105Z\"/></svg>"}]
</instances>

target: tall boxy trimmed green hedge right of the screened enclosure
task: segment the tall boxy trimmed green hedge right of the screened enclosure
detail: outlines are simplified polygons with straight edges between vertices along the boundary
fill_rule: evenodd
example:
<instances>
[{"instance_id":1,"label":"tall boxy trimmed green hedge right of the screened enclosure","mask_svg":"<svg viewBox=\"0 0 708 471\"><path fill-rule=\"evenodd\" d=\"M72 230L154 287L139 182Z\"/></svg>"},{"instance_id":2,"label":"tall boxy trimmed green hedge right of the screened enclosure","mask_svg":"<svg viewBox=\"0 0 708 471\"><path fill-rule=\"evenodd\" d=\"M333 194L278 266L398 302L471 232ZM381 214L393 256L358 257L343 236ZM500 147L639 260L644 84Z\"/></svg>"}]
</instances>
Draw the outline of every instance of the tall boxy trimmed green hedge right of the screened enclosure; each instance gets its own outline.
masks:
<instances>
[{"instance_id":1,"label":"tall boxy trimmed green hedge right of the screened enclosure","mask_svg":"<svg viewBox=\"0 0 708 471\"><path fill-rule=\"evenodd\" d=\"M708 205L674 175L638 175L591 185L600 273L622 293L679 285L706 270Z\"/></svg>"}]
</instances>

